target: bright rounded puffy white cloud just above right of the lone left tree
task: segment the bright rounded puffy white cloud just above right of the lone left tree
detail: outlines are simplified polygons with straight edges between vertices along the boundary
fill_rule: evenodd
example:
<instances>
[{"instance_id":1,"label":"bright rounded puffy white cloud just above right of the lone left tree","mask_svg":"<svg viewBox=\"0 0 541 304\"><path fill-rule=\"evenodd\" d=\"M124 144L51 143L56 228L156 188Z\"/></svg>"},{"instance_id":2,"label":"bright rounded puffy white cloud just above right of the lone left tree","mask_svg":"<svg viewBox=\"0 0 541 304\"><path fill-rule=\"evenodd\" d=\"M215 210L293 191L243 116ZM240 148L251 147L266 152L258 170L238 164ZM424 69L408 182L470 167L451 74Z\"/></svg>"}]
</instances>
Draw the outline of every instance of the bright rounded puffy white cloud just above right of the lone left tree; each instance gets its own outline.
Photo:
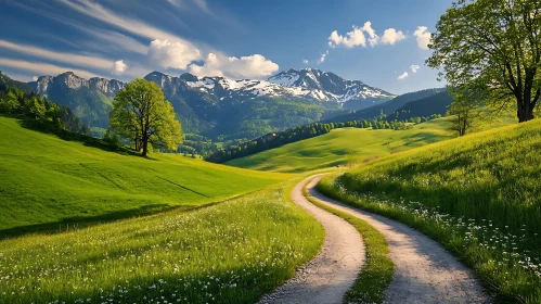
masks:
<instances>
[{"instance_id":1,"label":"bright rounded puffy white cloud just above right of the lone left tree","mask_svg":"<svg viewBox=\"0 0 541 304\"><path fill-rule=\"evenodd\" d=\"M201 52L189 43L155 39L149 48L149 58L164 68L185 69L201 59Z\"/></svg>"}]
</instances>

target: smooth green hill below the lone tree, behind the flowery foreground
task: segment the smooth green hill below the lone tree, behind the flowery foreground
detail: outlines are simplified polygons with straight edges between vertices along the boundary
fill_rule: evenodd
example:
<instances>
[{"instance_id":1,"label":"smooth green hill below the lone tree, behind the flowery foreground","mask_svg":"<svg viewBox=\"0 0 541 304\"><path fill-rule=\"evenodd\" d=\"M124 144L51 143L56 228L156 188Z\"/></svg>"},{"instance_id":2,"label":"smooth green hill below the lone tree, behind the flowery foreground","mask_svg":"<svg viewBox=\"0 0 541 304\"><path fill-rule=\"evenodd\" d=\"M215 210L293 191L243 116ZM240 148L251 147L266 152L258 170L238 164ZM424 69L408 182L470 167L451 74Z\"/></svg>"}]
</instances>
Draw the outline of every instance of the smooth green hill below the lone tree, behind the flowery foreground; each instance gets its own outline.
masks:
<instances>
[{"instance_id":1,"label":"smooth green hill below the lone tree, behind the flowery foreground","mask_svg":"<svg viewBox=\"0 0 541 304\"><path fill-rule=\"evenodd\" d=\"M123 155L22 125L0 116L0 238L189 208L292 177L181 155Z\"/></svg>"}]
</instances>

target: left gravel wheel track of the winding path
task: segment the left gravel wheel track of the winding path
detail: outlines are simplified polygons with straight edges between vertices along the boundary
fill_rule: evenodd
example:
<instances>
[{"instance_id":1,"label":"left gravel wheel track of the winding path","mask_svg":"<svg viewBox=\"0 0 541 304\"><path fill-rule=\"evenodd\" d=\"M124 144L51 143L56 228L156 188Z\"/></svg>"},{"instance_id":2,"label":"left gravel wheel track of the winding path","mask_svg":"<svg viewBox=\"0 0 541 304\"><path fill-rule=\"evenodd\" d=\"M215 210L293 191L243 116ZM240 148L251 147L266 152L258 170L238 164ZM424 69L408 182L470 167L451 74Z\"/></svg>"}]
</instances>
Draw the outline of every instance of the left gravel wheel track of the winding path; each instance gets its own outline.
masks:
<instances>
[{"instance_id":1,"label":"left gravel wheel track of the winding path","mask_svg":"<svg viewBox=\"0 0 541 304\"><path fill-rule=\"evenodd\" d=\"M297 269L294 278L259 303L343 303L344 294L351 288L364 263L364 244L353 226L317 207L302 195L302 188L312 178L298 183L291 195L325 228L323 246L312 261Z\"/></svg>"}]
</instances>

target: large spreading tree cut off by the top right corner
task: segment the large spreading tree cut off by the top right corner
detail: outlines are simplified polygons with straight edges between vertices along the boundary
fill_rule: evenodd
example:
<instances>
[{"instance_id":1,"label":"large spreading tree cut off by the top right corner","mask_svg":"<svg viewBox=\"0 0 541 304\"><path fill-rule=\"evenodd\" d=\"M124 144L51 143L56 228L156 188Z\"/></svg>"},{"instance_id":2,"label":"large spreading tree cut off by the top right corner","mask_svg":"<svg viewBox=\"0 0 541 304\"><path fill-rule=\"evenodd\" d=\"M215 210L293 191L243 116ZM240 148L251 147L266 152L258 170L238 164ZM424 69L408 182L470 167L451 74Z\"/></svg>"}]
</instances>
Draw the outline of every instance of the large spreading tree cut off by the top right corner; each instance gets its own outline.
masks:
<instances>
[{"instance_id":1,"label":"large spreading tree cut off by the top right corner","mask_svg":"<svg viewBox=\"0 0 541 304\"><path fill-rule=\"evenodd\" d=\"M541 97L541 0L460 0L440 17L430 67L493 109L533 118Z\"/></svg>"}]
</instances>

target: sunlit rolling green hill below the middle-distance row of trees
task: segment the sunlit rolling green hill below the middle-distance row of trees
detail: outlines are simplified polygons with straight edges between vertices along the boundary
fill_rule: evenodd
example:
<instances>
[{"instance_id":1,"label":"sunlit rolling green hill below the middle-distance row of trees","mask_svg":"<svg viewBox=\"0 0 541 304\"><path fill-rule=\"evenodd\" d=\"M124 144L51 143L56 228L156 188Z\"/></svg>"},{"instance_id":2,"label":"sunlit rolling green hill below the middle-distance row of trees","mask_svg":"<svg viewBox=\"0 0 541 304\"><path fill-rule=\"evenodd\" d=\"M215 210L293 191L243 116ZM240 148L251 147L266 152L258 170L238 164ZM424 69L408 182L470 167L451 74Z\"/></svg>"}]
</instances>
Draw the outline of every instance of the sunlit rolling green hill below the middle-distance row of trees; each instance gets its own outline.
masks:
<instances>
[{"instance_id":1,"label":"sunlit rolling green hill below the middle-distance row of trees","mask_svg":"<svg viewBox=\"0 0 541 304\"><path fill-rule=\"evenodd\" d=\"M450 139L448 118L415 125L411 130L344 128L311 139L289 143L228 165L258 170L299 173L324 167L362 163L364 160L405 151Z\"/></svg>"}]
</instances>

